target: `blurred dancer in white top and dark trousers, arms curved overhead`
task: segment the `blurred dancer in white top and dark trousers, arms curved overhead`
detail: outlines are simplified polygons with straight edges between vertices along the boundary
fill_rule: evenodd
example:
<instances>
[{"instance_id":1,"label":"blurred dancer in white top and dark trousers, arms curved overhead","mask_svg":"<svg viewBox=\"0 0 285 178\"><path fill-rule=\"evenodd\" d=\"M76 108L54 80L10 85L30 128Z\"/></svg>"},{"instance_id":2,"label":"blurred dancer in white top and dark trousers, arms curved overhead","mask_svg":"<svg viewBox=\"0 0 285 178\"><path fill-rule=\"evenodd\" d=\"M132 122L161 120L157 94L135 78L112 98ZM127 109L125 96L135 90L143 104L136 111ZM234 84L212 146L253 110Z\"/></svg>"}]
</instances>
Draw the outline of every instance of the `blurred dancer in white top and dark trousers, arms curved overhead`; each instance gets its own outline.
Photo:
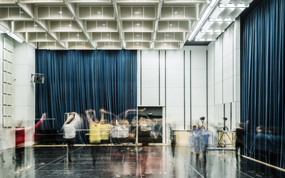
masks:
<instances>
[{"instance_id":1,"label":"blurred dancer in white top and dark trousers, arms curved overhead","mask_svg":"<svg viewBox=\"0 0 285 178\"><path fill-rule=\"evenodd\" d=\"M68 119L63 125L64 135L63 138L68 143L67 148L67 155L68 155L68 162L73 162L71 159L71 147L76 142L76 126L81 121L81 117L76 112L71 112L68 116Z\"/></svg>"}]
</instances>

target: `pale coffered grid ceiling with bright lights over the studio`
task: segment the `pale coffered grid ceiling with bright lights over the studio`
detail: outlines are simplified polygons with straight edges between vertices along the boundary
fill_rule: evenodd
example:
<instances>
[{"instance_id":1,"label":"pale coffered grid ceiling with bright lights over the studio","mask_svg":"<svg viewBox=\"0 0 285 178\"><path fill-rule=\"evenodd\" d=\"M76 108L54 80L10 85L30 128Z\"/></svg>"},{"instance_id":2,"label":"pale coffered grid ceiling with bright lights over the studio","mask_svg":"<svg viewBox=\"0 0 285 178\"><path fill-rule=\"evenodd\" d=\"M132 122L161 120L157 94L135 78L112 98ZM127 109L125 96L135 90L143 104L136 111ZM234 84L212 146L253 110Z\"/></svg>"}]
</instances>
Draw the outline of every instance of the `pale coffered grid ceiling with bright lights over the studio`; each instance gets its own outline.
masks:
<instances>
[{"instance_id":1,"label":"pale coffered grid ceiling with bright lights over the studio","mask_svg":"<svg viewBox=\"0 0 285 178\"><path fill-rule=\"evenodd\" d=\"M0 0L0 24L39 49L179 49L214 40L251 1Z\"/></svg>"}]
</instances>

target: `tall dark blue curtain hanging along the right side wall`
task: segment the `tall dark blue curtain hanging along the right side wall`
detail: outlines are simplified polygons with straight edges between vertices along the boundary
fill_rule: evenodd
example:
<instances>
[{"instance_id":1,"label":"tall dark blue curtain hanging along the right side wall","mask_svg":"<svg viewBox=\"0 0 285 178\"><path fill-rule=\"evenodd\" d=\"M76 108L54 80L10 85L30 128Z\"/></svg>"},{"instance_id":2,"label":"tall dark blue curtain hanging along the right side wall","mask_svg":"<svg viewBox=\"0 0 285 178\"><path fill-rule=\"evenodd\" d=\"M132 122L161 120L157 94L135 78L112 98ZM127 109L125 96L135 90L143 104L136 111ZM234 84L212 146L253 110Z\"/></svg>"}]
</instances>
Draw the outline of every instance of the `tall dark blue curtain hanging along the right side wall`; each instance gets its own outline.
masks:
<instances>
[{"instance_id":1,"label":"tall dark blue curtain hanging along the right side wall","mask_svg":"<svg viewBox=\"0 0 285 178\"><path fill-rule=\"evenodd\" d=\"M264 0L241 22L241 120L248 148L244 155L283 169L284 11L284 0Z\"/></svg>"}]
</instances>

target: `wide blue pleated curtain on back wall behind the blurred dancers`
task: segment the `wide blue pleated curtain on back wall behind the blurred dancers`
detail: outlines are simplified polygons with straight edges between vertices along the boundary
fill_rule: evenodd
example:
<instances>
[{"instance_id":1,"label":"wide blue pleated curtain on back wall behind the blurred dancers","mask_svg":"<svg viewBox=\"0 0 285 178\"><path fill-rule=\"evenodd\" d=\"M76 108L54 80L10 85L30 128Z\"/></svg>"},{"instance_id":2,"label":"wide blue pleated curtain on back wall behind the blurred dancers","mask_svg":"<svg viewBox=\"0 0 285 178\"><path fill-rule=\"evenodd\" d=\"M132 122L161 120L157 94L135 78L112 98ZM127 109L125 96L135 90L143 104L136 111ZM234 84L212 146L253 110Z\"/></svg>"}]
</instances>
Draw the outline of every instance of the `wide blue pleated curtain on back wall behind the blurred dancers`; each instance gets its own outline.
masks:
<instances>
[{"instance_id":1,"label":"wide blue pleated curtain on back wall behind the blurred dancers","mask_svg":"<svg viewBox=\"0 0 285 178\"><path fill-rule=\"evenodd\" d=\"M46 121L45 129L61 130L65 112L85 116L93 109L100 120L100 108L115 115L137 108L137 51L36 50L36 73L45 77L44 84L36 84L36 117L47 112L56 119ZM81 129L88 129L86 120ZM86 142L85 133L76 133L77 143Z\"/></svg>"}]
</instances>

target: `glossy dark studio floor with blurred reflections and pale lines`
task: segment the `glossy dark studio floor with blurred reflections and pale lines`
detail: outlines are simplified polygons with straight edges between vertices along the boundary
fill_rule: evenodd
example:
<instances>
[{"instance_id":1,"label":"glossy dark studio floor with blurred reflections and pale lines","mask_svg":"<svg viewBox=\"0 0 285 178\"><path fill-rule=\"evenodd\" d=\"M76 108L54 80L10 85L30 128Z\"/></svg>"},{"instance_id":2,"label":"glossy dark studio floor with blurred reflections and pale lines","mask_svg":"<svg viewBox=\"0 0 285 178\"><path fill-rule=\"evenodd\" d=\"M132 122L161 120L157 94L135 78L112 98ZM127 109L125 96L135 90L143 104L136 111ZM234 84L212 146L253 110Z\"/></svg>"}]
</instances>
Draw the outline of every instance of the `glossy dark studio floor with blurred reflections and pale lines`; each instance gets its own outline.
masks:
<instances>
[{"instance_id":1,"label":"glossy dark studio floor with blurred reflections and pale lines","mask_svg":"<svg viewBox=\"0 0 285 178\"><path fill-rule=\"evenodd\" d=\"M170 146L76 146L71 151L73 162L68 162L66 147L26 147L20 164L13 149L5 150L0 177L285 177L250 159L237 164L234 151L208 151L204 162L187 145L175 152ZM15 174L19 164L24 170Z\"/></svg>"}]
</instances>

